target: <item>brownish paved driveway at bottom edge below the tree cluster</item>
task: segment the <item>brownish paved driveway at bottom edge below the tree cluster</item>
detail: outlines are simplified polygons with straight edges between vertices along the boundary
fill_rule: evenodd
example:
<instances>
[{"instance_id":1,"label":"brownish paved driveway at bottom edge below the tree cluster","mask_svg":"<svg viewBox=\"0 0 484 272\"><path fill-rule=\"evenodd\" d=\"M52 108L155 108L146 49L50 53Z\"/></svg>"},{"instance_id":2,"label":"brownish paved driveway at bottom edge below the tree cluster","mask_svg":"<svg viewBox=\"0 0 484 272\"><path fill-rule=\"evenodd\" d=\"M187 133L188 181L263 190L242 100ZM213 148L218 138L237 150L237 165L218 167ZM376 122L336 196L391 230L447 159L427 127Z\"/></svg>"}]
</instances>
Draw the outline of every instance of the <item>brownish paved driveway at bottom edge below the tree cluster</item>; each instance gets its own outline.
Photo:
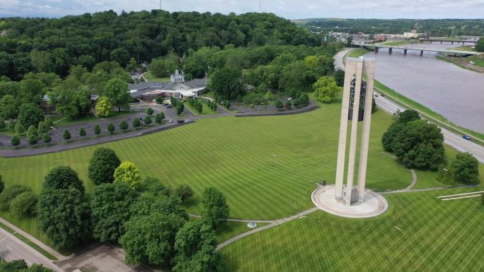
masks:
<instances>
[{"instance_id":1,"label":"brownish paved driveway at bottom edge below the tree cluster","mask_svg":"<svg viewBox=\"0 0 484 272\"><path fill-rule=\"evenodd\" d=\"M146 266L128 266L125 264L124 252L104 243L97 244L71 259L58 261L56 264L65 272L71 272L77 268L87 272L153 272Z\"/></svg>"}]
</instances>

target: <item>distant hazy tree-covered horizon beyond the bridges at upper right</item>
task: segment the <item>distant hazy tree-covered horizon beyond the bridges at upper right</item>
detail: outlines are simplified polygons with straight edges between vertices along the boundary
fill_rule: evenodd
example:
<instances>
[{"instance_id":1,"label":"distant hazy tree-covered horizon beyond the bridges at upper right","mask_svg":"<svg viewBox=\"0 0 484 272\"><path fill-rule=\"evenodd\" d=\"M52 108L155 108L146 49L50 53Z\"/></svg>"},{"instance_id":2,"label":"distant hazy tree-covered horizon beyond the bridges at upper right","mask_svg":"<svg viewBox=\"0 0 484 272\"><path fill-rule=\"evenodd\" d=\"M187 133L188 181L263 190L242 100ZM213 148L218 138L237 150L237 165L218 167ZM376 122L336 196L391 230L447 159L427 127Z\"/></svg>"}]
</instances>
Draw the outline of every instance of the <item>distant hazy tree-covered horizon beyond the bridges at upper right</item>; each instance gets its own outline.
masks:
<instances>
[{"instance_id":1,"label":"distant hazy tree-covered horizon beyond the bridges at upper right","mask_svg":"<svg viewBox=\"0 0 484 272\"><path fill-rule=\"evenodd\" d=\"M478 19L425 19L419 20L419 32L430 35L484 35L482 20ZM364 32L366 34L402 34L415 27L413 19L310 19L305 27L322 32Z\"/></svg>"}]
</instances>

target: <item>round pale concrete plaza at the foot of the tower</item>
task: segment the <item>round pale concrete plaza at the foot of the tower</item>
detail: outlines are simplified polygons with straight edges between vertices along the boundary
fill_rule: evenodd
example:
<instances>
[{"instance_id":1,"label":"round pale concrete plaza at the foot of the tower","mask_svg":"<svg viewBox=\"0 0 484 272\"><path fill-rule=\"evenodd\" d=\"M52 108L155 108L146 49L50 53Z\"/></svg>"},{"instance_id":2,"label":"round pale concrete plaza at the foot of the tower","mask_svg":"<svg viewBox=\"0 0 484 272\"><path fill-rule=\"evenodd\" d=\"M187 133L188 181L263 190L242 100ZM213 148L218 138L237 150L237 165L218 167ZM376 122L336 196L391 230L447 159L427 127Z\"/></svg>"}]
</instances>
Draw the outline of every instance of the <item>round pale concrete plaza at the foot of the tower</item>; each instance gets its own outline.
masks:
<instances>
[{"instance_id":1,"label":"round pale concrete plaza at the foot of the tower","mask_svg":"<svg viewBox=\"0 0 484 272\"><path fill-rule=\"evenodd\" d=\"M313 191L311 200L321 210L347 218L370 218L381 215L388 208L386 199L370 189L364 189L364 201L347 206L335 199L335 186L320 187Z\"/></svg>"}]
</instances>

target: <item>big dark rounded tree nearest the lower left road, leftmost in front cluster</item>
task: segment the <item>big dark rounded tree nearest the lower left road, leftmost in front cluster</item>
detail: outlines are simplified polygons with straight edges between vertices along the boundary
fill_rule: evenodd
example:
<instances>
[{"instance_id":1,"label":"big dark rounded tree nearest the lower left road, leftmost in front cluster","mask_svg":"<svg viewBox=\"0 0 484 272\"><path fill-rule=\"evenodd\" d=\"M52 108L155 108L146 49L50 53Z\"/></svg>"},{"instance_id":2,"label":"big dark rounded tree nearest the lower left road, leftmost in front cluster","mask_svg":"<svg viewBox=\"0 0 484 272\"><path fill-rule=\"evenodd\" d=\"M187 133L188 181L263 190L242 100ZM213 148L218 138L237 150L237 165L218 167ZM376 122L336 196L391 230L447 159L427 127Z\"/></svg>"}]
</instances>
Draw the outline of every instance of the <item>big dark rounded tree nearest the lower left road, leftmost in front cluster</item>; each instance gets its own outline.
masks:
<instances>
[{"instance_id":1,"label":"big dark rounded tree nearest the lower left road, leftmost in front cluster","mask_svg":"<svg viewBox=\"0 0 484 272\"><path fill-rule=\"evenodd\" d=\"M37 212L40 230L54 247L72 249L91 236L88 200L75 187L42 189Z\"/></svg>"}]
</instances>

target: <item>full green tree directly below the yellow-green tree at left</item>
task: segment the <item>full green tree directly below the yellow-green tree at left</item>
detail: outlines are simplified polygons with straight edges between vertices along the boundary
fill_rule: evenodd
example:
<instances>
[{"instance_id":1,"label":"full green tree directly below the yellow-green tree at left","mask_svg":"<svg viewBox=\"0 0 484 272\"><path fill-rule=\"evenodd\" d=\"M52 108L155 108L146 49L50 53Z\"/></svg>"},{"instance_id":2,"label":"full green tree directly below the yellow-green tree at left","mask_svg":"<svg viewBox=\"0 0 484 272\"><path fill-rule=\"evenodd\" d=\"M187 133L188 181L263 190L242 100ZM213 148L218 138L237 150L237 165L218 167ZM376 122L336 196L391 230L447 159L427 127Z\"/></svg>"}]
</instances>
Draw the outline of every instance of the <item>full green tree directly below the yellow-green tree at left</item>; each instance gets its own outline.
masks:
<instances>
[{"instance_id":1,"label":"full green tree directly below the yellow-green tree at left","mask_svg":"<svg viewBox=\"0 0 484 272\"><path fill-rule=\"evenodd\" d=\"M101 242L120 239L125 234L125 223L137 199L137 192L125 183L105 183L94 188L91 196L93 237Z\"/></svg>"}]
</instances>

